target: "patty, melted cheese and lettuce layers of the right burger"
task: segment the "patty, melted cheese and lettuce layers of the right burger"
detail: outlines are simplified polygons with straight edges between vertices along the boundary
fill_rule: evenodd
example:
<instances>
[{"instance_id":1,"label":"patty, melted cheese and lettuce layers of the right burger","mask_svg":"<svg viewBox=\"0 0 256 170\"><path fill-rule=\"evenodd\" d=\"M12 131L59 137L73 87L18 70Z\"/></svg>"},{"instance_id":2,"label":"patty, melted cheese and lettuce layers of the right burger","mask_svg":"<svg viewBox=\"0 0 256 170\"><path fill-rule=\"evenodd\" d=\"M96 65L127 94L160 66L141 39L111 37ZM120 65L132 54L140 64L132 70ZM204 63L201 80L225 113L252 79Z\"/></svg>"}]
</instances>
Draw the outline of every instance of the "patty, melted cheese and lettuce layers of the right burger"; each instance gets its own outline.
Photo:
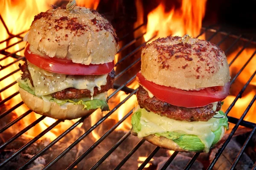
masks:
<instances>
[{"instance_id":1,"label":"patty, melted cheese and lettuce layers of the right burger","mask_svg":"<svg viewBox=\"0 0 256 170\"><path fill-rule=\"evenodd\" d=\"M221 102L204 107L185 108L157 99L139 87L139 106L131 118L133 131L142 138L149 135L172 139L183 150L209 152L228 129L227 116L220 111Z\"/></svg>"}]
</instances>

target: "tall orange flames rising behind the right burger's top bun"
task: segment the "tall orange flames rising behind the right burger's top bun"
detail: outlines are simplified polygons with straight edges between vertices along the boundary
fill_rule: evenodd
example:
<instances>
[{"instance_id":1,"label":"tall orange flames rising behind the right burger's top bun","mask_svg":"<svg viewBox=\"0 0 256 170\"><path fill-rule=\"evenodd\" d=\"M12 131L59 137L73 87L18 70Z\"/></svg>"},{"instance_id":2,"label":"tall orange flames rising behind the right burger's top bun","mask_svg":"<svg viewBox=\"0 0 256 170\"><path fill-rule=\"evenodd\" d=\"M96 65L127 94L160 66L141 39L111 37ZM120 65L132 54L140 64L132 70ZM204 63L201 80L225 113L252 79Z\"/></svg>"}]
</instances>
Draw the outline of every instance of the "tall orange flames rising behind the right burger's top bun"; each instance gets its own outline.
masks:
<instances>
[{"instance_id":1,"label":"tall orange flames rising behind the right burger's top bun","mask_svg":"<svg viewBox=\"0 0 256 170\"><path fill-rule=\"evenodd\" d=\"M161 2L157 8L148 14L147 33L148 41L154 34L158 37L183 36L189 34L196 37L201 29L207 0L182 0L180 8L172 8L166 12L165 3ZM201 39L204 39L201 37Z\"/></svg>"}]
</instances>

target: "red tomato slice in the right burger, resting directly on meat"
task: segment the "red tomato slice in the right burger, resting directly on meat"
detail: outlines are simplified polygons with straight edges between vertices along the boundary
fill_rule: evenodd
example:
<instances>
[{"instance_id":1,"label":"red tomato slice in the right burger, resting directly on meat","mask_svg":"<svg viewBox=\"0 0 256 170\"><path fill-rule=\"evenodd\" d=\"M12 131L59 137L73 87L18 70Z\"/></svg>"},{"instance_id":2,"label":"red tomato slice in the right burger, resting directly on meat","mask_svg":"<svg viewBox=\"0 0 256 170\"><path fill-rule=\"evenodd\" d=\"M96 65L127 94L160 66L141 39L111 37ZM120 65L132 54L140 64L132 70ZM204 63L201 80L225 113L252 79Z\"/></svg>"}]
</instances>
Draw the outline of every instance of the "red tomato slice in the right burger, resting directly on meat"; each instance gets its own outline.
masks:
<instances>
[{"instance_id":1,"label":"red tomato slice in the right burger, resting directly on meat","mask_svg":"<svg viewBox=\"0 0 256 170\"><path fill-rule=\"evenodd\" d=\"M230 88L230 82L227 82L224 86L209 87L200 91L184 91L150 82L140 72L137 73L137 81L158 99L185 108L202 107L212 102L219 102L228 96Z\"/></svg>"}]
</instances>

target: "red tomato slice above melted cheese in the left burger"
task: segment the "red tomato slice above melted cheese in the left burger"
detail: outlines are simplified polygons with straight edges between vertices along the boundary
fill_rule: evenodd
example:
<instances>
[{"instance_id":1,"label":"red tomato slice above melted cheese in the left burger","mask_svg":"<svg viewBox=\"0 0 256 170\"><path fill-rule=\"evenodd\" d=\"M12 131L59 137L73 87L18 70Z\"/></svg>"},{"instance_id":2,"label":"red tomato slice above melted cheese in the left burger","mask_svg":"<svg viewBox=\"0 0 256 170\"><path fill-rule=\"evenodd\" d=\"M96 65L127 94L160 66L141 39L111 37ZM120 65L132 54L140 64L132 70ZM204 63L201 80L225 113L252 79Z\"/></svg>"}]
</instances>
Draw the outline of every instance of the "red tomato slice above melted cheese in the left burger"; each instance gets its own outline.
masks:
<instances>
[{"instance_id":1,"label":"red tomato slice above melted cheese in the left burger","mask_svg":"<svg viewBox=\"0 0 256 170\"><path fill-rule=\"evenodd\" d=\"M105 64L83 65L72 62L68 59L51 58L48 56L39 56L32 54L29 50L29 44L26 45L24 55L32 64L43 68L44 70L60 74L70 75L101 75L108 74L114 68L114 61Z\"/></svg>"}]
</instances>

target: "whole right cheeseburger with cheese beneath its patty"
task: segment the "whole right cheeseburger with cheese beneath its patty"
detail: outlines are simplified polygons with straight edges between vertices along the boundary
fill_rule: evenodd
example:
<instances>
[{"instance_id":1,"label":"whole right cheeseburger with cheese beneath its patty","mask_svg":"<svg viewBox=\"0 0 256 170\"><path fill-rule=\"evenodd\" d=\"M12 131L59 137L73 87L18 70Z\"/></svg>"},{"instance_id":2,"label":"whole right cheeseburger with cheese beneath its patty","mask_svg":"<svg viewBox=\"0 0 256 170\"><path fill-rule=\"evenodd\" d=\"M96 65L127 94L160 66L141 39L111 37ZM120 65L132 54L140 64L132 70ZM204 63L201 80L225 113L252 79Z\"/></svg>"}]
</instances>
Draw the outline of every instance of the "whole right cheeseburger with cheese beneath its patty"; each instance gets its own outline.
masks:
<instances>
[{"instance_id":1,"label":"whole right cheeseburger with cheese beneath its patty","mask_svg":"<svg viewBox=\"0 0 256 170\"><path fill-rule=\"evenodd\" d=\"M229 94L229 67L211 42L188 35L153 41L142 50L137 81L135 136L169 150L209 152L228 129L220 110Z\"/></svg>"}]
</instances>

